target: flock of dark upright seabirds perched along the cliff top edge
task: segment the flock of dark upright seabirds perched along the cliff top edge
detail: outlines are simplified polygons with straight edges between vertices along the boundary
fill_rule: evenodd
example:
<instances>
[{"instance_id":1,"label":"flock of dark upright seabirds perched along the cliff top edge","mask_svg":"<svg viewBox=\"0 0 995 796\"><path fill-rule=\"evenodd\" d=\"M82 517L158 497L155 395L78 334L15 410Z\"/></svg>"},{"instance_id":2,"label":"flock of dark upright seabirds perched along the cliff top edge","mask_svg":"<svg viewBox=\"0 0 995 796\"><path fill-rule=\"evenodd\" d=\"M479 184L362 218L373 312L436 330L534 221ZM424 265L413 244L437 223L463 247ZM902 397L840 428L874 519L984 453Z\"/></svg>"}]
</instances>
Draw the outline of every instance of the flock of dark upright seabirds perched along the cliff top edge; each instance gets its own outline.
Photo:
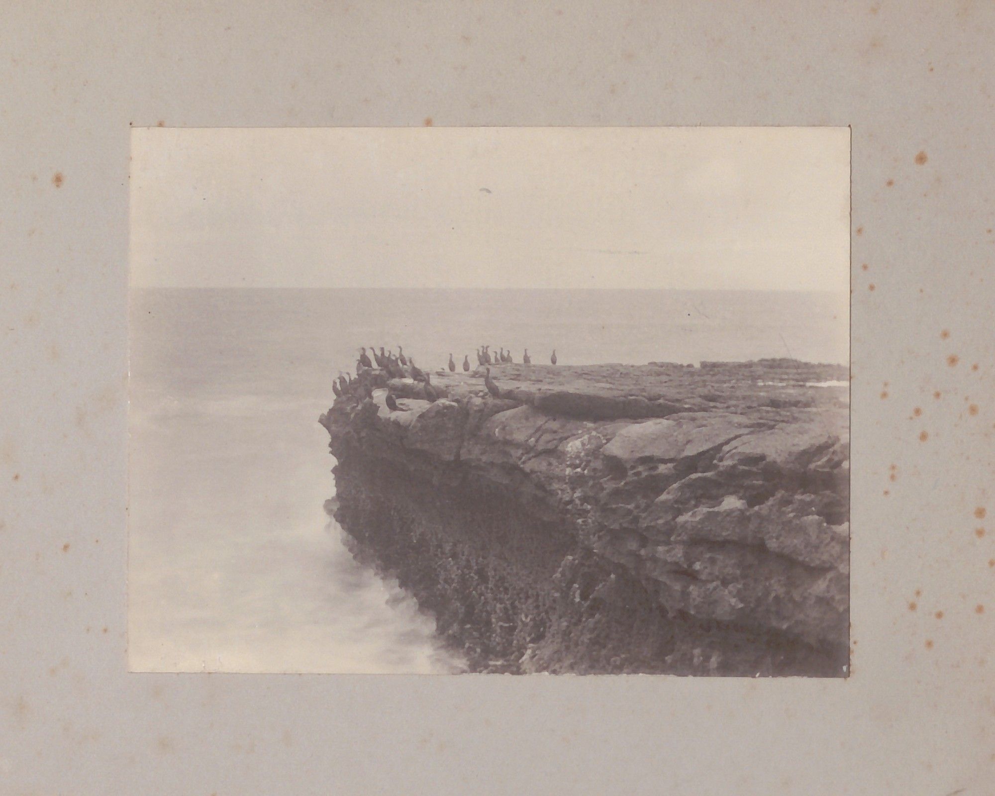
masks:
<instances>
[{"instance_id":1,"label":"flock of dark upright seabirds perched along the cliff top edge","mask_svg":"<svg viewBox=\"0 0 995 796\"><path fill-rule=\"evenodd\" d=\"M359 398L360 400L372 399L373 398L373 387L365 380L360 380L358 376L365 370L372 370L374 367L379 368L388 377L392 379L413 379L415 382L420 382L422 384L422 391L425 395L425 400L435 403L439 400L439 393L436 388L432 386L432 377L422 370L418 365L415 364L415 358L413 356L405 356L404 349L401 345L397 346L397 353L393 353L392 350L388 350L384 353L383 346L380 346L380 353L377 353L375 346L370 346L370 351L373 354L373 359L371 360L369 354L366 353L366 348L359 349L359 358L356 360L356 377L351 378L348 373L342 373L338 371L338 377L332 380L331 390L335 393L336 398L341 398L343 395L352 396ZM525 349L524 354L521 357L523 364L530 365L532 363L531 357L528 355L528 349ZM549 361L552 364L556 364L556 349L553 349L552 355L549 357ZM484 375L484 385L488 388L488 392L491 393L495 398L500 398L500 390L497 389L497 384L495 384L494 379L491 378L491 368L489 365L497 364L510 364L514 360L511 358L511 352L505 351L503 347L500 348L498 353L491 352L490 345L482 345L477 349L477 362L480 367L486 368ZM456 372L456 360L453 359L453 354L449 355L449 370L451 373ZM463 357L463 370L464 372L470 372L470 355L466 354ZM387 388L387 397L384 401L387 404L387 408L391 412L404 412L404 408L398 406L397 398Z\"/></svg>"}]
</instances>

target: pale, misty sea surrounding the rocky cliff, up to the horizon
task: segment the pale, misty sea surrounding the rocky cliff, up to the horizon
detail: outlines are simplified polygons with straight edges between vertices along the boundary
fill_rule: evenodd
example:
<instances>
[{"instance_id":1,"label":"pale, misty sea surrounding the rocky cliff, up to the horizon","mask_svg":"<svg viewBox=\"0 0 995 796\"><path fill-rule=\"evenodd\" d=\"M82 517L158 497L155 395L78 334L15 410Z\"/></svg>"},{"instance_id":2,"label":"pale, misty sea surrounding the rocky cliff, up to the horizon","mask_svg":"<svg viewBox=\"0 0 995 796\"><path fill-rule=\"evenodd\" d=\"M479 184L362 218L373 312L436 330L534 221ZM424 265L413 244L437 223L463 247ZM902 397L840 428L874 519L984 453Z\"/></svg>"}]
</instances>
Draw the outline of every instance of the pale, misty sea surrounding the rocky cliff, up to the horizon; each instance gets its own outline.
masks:
<instances>
[{"instance_id":1,"label":"pale, misty sea surrounding the rocky cliff, up to the horizon","mask_svg":"<svg viewBox=\"0 0 995 796\"><path fill-rule=\"evenodd\" d=\"M318 415L357 347L423 369L487 343L533 362L848 360L847 296L667 291L132 290L132 671L464 668L356 563Z\"/></svg>"}]
</instances>

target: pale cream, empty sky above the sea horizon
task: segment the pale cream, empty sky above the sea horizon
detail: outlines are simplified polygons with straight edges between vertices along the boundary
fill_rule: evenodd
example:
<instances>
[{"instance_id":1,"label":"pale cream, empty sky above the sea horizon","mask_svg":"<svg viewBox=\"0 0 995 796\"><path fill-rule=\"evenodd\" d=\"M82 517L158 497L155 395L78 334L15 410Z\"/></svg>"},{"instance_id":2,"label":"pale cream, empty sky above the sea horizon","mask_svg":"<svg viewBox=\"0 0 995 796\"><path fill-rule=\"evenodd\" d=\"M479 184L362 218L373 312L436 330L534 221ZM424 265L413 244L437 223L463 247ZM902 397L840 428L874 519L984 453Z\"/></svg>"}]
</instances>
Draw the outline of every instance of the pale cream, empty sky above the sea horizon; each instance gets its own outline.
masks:
<instances>
[{"instance_id":1,"label":"pale cream, empty sky above the sea horizon","mask_svg":"<svg viewBox=\"0 0 995 796\"><path fill-rule=\"evenodd\" d=\"M132 287L849 294L846 127L134 128Z\"/></svg>"}]
</instances>

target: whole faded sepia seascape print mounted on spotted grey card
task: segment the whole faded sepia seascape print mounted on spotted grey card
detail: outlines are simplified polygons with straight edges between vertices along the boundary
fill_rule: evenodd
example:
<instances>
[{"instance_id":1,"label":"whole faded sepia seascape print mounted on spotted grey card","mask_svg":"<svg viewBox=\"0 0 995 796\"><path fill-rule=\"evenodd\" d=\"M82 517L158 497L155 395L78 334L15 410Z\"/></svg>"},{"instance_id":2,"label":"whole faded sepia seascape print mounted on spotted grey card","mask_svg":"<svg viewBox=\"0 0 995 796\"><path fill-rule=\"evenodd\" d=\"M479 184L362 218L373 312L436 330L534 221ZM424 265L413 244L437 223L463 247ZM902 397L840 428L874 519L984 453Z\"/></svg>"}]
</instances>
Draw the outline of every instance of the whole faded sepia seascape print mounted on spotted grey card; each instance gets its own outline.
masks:
<instances>
[{"instance_id":1,"label":"whole faded sepia seascape print mounted on spotted grey card","mask_svg":"<svg viewBox=\"0 0 995 796\"><path fill-rule=\"evenodd\" d=\"M847 677L850 141L133 129L129 669Z\"/></svg>"}]
</instances>

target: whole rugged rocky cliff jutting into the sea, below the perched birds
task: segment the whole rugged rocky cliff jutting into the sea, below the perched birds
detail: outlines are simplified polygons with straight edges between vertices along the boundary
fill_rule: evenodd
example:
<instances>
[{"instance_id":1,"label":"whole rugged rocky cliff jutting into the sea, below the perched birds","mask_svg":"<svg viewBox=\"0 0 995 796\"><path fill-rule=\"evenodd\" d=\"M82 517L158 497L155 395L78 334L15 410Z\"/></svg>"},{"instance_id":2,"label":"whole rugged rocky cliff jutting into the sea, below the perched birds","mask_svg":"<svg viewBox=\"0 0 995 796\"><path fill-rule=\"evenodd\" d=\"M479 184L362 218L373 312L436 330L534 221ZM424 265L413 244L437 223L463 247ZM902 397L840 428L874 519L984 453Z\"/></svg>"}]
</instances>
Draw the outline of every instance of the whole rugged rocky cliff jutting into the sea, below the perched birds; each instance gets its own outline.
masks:
<instances>
[{"instance_id":1,"label":"whole rugged rocky cliff jutting into the sea, below the perched birds","mask_svg":"<svg viewBox=\"0 0 995 796\"><path fill-rule=\"evenodd\" d=\"M474 671L845 676L845 368L432 376L322 415L329 510Z\"/></svg>"}]
</instances>

